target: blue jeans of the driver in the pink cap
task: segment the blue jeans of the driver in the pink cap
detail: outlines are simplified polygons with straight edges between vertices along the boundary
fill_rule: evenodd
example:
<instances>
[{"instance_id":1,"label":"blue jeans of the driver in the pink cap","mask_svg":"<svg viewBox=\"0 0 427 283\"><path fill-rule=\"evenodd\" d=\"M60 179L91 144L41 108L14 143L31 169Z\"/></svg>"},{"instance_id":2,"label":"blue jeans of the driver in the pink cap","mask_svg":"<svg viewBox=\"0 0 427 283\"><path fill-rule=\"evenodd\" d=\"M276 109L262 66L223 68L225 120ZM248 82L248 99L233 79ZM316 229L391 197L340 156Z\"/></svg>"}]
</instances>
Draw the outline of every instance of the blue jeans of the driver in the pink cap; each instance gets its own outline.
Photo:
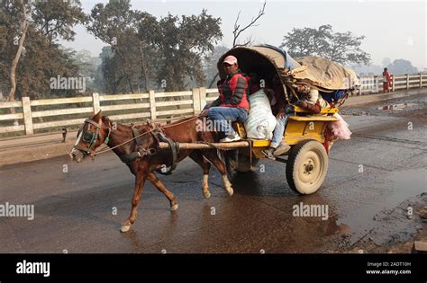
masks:
<instances>
[{"instance_id":1,"label":"blue jeans of the driver in the pink cap","mask_svg":"<svg viewBox=\"0 0 427 283\"><path fill-rule=\"evenodd\" d=\"M231 122L239 120L244 123L248 118L248 113L244 109L234 107L211 107L208 115L213 119L215 129L224 132L225 135L236 135Z\"/></svg>"}]
</instances>

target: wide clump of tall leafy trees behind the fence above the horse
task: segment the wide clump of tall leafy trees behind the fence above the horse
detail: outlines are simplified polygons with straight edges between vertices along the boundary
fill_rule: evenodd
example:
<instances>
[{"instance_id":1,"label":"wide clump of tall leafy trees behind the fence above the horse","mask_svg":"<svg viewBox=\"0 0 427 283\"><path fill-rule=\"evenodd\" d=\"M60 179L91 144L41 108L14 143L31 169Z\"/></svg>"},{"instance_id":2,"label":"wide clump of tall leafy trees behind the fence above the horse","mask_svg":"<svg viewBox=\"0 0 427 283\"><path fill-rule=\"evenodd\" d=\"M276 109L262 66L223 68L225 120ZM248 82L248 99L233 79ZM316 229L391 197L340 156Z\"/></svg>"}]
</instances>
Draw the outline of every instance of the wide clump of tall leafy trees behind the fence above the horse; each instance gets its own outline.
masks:
<instances>
[{"instance_id":1,"label":"wide clump of tall leafy trees behind the fence above the horse","mask_svg":"<svg viewBox=\"0 0 427 283\"><path fill-rule=\"evenodd\" d=\"M220 24L221 19L205 10L181 18L168 14L158 20L132 10L129 0L95 4L86 29L109 44L111 51L111 56L102 56L103 91L178 91L189 80L204 84L202 59L222 38Z\"/></svg>"}]
</instances>

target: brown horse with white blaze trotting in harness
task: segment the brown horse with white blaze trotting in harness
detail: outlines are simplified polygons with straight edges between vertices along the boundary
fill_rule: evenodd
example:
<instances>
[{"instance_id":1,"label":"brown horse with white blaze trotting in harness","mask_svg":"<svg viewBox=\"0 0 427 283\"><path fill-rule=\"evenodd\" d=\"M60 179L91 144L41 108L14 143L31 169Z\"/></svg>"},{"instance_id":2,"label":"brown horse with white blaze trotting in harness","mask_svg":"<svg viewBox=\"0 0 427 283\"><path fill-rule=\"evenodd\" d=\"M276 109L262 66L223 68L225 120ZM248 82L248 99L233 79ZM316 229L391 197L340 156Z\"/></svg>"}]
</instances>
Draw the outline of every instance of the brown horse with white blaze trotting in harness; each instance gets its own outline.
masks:
<instances>
[{"instance_id":1,"label":"brown horse with white blaze trotting in harness","mask_svg":"<svg viewBox=\"0 0 427 283\"><path fill-rule=\"evenodd\" d=\"M132 174L135 175L131 215L123 222L121 227L122 232L127 232L133 222L135 222L138 203L141 200L141 193L146 180L149 180L168 198L171 211L177 210L177 198L166 189L165 185L154 173L160 168L173 165L170 151L159 150L159 129L161 129L161 132L166 137L175 142L195 143L217 141L218 132L198 130L197 126L200 125L200 122L201 120L197 117L191 117L159 128L150 123L150 121L147 124L130 127L115 123L108 117L102 116L101 111L99 111L91 119L86 119L82 125L77 134L76 144L73 146L69 156L79 163L86 156L94 158L98 154L95 153L96 148L106 144L122 160L123 156L129 157L133 155L133 157L136 157L136 159L125 159ZM138 136L141 137L135 136L135 130L132 130L132 127L136 129L136 132L139 134ZM226 166L220 159L216 149L181 149L177 151L176 162L183 160L186 156L189 156L203 168L202 190L204 198L208 199L211 196L208 186L208 174L211 163L223 175L225 190L232 196L232 184L227 177Z\"/></svg>"}]
</instances>

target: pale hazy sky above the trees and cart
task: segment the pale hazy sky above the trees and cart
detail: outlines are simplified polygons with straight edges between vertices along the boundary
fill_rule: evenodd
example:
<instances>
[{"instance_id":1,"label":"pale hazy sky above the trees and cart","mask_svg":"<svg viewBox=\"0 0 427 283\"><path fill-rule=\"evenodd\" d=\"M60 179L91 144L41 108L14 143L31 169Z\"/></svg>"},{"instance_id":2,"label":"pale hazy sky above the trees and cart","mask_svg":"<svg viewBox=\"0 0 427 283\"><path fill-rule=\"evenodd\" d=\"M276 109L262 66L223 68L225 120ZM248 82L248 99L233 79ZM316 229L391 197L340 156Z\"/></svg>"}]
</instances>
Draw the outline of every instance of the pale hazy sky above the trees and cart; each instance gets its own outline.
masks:
<instances>
[{"instance_id":1,"label":"pale hazy sky above the trees and cart","mask_svg":"<svg viewBox=\"0 0 427 283\"><path fill-rule=\"evenodd\" d=\"M106 0L82 0L83 8L89 13L96 3ZM263 1L260 0L132 0L132 9L138 9L162 17L199 14L202 9L214 17L222 18L223 40L221 45L232 45L232 29L241 11L241 24L250 22L257 15ZM283 1L267 0L265 15L259 26L250 28L241 35L241 41L252 37L256 43L280 45L284 35L293 28L317 28L331 24L333 31L351 31L365 35L361 49L372 57L372 63L381 65L383 58L404 58L422 70L427 68L425 1ZM93 56L105 45L95 40L83 26L76 27L74 42L62 42L66 47L87 49Z\"/></svg>"}]
</instances>

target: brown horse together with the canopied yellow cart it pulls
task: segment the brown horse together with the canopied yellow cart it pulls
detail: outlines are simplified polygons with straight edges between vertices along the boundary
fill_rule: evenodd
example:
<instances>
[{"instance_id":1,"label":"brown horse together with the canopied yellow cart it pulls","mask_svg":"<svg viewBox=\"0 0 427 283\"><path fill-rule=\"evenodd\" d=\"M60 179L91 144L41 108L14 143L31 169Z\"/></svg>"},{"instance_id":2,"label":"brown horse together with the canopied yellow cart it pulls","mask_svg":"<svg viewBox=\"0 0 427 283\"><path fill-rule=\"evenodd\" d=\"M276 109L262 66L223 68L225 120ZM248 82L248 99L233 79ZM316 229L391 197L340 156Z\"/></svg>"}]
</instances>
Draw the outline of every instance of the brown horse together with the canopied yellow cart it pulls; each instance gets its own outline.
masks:
<instances>
[{"instance_id":1,"label":"brown horse together with the canopied yellow cart it pulls","mask_svg":"<svg viewBox=\"0 0 427 283\"><path fill-rule=\"evenodd\" d=\"M340 116L336 115L338 107L352 92L352 82L357 84L356 75L353 71L323 58L302 57L294 60L282 49L257 46L239 47L226 52L218 62L222 79L225 74L221 65L223 58L228 55L238 58L239 66L244 72L262 75L266 84L272 85L272 82L275 82L289 107L293 107L283 136L283 141L290 149L278 156L276 161L286 164L286 180L291 189L300 194L315 192L326 177L328 155L337 139L337 132L334 132L331 126L340 119ZM294 105L298 99L293 89L295 82L310 84L319 93L341 94L333 96L335 101L333 105L330 104L332 107L323 108L313 115ZM262 151L270 145L268 139L250 138L250 132L248 131L247 135L244 125L240 123L234 123L232 126L240 135L241 141L217 143L219 138L216 136L220 133L197 131L199 121L199 117L194 116L163 126L150 120L141 125L128 126L114 122L99 111L82 124L77 133L77 141L69 153L74 161L79 163L86 156L95 158L95 155L114 151L135 176L131 214L123 222L122 232L129 231L135 222L145 181L150 181L167 197L171 211L177 210L177 198L159 180L155 172L170 173L178 162L188 156L203 169L204 198L211 196L208 183L211 164L221 172L224 189L232 196L232 183L228 178L230 170L227 168L240 173L254 170L259 159L264 158ZM97 150L103 145L106 147ZM165 168L169 169L163 172Z\"/></svg>"}]
</instances>

